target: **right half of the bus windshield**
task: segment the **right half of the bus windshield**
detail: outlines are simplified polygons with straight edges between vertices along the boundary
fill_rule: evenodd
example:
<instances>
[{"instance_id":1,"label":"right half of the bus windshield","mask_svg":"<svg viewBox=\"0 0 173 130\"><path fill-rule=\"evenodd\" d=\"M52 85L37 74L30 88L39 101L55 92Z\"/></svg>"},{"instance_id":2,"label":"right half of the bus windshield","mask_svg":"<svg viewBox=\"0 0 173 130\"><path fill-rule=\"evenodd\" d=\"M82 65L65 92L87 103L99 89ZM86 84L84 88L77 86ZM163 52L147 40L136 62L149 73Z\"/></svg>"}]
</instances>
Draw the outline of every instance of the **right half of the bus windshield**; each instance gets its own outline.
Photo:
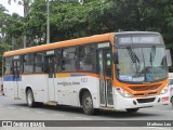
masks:
<instances>
[{"instance_id":1,"label":"right half of the bus windshield","mask_svg":"<svg viewBox=\"0 0 173 130\"><path fill-rule=\"evenodd\" d=\"M160 80L167 77L167 57L164 48L144 48L146 80Z\"/></svg>"}]
</instances>

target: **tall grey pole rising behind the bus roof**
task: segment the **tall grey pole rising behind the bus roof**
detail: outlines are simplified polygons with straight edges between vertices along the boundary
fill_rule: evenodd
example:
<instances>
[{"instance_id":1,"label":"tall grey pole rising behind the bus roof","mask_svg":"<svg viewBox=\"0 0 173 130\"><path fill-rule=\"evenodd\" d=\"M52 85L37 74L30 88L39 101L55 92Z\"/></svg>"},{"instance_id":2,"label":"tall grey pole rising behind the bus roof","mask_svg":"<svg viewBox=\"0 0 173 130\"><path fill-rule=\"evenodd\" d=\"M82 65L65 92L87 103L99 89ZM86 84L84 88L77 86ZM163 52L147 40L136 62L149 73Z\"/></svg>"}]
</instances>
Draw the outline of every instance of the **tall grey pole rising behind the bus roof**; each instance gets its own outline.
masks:
<instances>
[{"instance_id":1,"label":"tall grey pole rising behind the bus roof","mask_svg":"<svg viewBox=\"0 0 173 130\"><path fill-rule=\"evenodd\" d=\"M46 0L46 43L50 43L50 2Z\"/></svg>"}]
</instances>

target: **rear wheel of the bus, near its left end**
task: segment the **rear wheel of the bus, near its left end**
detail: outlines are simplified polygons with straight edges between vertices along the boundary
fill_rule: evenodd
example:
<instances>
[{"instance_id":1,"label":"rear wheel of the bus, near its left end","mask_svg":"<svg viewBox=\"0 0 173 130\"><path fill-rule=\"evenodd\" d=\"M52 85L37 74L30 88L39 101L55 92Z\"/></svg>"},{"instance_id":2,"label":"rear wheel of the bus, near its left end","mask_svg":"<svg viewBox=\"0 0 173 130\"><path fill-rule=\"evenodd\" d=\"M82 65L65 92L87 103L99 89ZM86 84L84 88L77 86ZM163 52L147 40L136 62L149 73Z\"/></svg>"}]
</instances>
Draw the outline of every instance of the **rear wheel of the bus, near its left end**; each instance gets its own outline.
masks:
<instances>
[{"instance_id":1,"label":"rear wheel of the bus, near its left end","mask_svg":"<svg viewBox=\"0 0 173 130\"><path fill-rule=\"evenodd\" d=\"M26 92L26 102L29 107L34 107L36 105L34 93L30 89Z\"/></svg>"}]
</instances>

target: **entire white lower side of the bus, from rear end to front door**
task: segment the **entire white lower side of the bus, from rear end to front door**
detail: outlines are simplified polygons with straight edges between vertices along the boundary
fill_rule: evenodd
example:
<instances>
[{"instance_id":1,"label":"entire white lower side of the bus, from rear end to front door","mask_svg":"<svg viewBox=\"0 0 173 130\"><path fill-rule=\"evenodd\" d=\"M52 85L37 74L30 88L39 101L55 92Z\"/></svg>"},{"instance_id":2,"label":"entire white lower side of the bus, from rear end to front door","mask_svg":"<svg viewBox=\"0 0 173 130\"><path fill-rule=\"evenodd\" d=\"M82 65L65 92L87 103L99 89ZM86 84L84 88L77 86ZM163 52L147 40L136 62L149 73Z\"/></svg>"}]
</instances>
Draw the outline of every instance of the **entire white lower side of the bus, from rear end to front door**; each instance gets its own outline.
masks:
<instances>
[{"instance_id":1,"label":"entire white lower side of the bus, from rear end to front door","mask_svg":"<svg viewBox=\"0 0 173 130\"><path fill-rule=\"evenodd\" d=\"M81 106L79 101L79 93L82 89L89 90L93 98L93 105L95 108L99 107L98 103L98 86L99 81L96 77L91 76L77 76L55 78L52 84L55 84L55 100L57 104ZM67 76L66 75L66 76ZM18 99L26 99L26 89L30 88L34 92L35 102L48 103L50 100L51 91L48 84L48 75L22 75L22 80L17 81L18 91L14 91L15 81L3 81L5 86L4 92L6 96L14 99L18 93ZM81 82L82 80L82 82Z\"/></svg>"}]
</instances>

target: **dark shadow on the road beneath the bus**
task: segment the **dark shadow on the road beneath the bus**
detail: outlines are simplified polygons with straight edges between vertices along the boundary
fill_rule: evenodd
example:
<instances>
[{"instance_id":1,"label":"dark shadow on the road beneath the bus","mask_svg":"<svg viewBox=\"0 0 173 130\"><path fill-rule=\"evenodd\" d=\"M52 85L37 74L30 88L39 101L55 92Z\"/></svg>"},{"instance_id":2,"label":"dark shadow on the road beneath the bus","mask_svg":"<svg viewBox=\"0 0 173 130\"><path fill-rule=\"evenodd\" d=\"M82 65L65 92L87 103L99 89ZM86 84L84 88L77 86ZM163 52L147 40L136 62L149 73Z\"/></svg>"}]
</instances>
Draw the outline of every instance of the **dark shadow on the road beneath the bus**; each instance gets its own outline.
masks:
<instances>
[{"instance_id":1,"label":"dark shadow on the road beneath the bus","mask_svg":"<svg viewBox=\"0 0 173 130\"><path fill-rule=\"evenodd\" d=\"M13 104L15 106L23 106L26 108L29 108L27 106L27 104ZM82 114L83 115L83 110L82 108L79 107L71 107L71 106L65 106L65 105L58 105L58 106L51 106L51 105L41 105L41 106L37 106L37 107L32 107L32 108L39 108L39 109L45 109L45 110L51 110L51 112L62 112L62 113L71 113L71 114ZM125 110L98 110L96 113L96 115L94 115L96 117L108 117L108 118L116 118L116 119L127 119L127 118L142 118L142 117L154 117L157 118L157 116L161 116L159 113L158 114L154 114L154 113L148 113L148 112L144 112L143 108L139 109L137 113L128 113Z\"/></svg>"}]
</instances>

